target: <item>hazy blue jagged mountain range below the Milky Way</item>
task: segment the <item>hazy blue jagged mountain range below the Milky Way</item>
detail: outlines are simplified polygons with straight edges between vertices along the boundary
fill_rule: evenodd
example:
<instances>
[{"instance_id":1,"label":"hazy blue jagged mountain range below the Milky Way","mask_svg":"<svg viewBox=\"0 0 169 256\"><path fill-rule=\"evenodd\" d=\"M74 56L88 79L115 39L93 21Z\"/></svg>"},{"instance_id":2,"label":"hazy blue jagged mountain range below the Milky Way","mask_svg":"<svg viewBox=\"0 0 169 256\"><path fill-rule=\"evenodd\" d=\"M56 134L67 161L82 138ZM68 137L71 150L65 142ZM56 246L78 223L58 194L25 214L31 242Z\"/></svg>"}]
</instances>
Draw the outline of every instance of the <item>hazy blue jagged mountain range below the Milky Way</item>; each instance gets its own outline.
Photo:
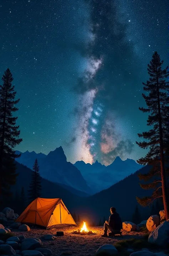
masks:
<instances>
[{"instance_id":1,"label":"hazy blue jagged mountain range below the Milky Way","mask_svg":"<svg viewBox=\"0 0 169 256\"><path fill-rule=\"evenodd\" d=\"M35 151L24 153L16 151L16 153L21 154L20 158L16 158L17 162L32 169L37 158L42 177L59 183L63 187L67 186L70 191L71 188L81 191L84 196L109 188L142 167L132 159L127 158L122 161L119 156L109 166L102 165L98 161L93 164L77 161L73 165L71 162L67 162L61 146L50 151L48 155L37 154Z\"/></svg>"}]
</instances>

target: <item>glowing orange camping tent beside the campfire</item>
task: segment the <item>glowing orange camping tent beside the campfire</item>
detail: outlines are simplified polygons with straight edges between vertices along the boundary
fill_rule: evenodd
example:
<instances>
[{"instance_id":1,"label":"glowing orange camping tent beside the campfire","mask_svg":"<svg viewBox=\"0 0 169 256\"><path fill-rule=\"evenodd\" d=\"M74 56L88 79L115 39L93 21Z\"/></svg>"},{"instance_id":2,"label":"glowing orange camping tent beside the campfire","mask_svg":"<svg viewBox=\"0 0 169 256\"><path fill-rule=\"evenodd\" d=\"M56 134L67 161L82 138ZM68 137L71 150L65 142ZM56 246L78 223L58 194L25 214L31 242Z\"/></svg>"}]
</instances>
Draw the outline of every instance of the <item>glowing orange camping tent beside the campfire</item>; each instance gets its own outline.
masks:
<instances>
[{"instance_id":1,"label":"glowing orange camping tent beside the campfire","mask_svg":"<svg viewBox=\"0 0 169 256\"><path fill-rule=\"evenodd\" d=\"M36 224L46 229L77 226L61 198L36 198L16 222Z\"/></svg>"}]
</instances>

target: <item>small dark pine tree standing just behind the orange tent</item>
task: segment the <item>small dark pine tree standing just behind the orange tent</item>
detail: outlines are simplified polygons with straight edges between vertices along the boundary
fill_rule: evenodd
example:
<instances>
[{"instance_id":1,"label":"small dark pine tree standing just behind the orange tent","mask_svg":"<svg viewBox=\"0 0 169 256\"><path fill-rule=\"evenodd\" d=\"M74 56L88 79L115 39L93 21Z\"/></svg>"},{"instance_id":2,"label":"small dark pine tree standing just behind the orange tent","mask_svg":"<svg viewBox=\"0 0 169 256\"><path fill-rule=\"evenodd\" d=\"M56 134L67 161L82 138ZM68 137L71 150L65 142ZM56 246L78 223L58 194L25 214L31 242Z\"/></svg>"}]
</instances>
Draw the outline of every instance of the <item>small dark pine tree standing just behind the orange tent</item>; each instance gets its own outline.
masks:
<instances>
[{"instance_id":1,"label":"small dark pine tree standing just behind the orange tent","mask_svg":"<svg viewBox=\"0 0 169 256\"><path fill-rule=\"evenodd\" d=\"M34 162L32 177L31 177L31 184L28 190L29 200L32 202L37 197L41 195L41 176L39 174L39 165L37 162L37 158Z\"/></svg>"}]
</instances>

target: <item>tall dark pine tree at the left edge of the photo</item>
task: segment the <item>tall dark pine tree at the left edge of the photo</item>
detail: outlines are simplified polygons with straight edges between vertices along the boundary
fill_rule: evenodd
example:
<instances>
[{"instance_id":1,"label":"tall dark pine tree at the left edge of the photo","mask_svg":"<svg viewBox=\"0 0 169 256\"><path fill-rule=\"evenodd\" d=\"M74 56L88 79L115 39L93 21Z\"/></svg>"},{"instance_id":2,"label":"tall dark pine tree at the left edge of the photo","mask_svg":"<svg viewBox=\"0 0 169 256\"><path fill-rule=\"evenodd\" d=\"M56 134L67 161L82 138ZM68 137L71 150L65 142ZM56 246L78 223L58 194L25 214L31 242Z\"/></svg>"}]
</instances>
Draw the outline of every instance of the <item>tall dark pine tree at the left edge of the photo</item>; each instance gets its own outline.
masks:
<instances>
[{"instance_id":1,"label":"tall dark pine tree at the left edge of the photo","mask_svg":"<svg viewBox=\"0 0 169 256\"><path fill-rule=\"evenodd\" d=\"M10 186L16 182L16 167L14 160L20 155L15 154L14 147L22 139L19 125L16 125L17 117L13 117L13 112L20 99L15 100L16 92L12 86L13 77L9 68L2 76L3 85L0 85L0 196L10 194Z\"/></svg>"}]
</instances>

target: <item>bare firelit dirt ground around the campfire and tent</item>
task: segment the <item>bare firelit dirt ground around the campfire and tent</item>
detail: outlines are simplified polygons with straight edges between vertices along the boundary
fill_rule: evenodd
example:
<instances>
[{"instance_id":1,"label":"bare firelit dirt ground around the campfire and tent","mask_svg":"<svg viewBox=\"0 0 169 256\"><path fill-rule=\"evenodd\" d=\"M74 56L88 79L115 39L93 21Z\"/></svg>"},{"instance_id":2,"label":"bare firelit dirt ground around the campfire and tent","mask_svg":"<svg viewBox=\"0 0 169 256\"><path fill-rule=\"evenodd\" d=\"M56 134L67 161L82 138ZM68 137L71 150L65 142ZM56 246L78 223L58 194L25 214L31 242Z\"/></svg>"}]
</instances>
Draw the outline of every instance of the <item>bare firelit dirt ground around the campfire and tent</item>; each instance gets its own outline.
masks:
<instances>
[{"instance_id":1,"label":"bare firelit dirt ground around the campfire and tent","mask_svg":"<svg viewBox=\"0 0 169 256\"><path fill-rule=\"evenodd\" d=\"M40 238L45 234L56 235L56 231L64 231L65 235L62 237L57 237L53 241L44 241L42 239L43 247L48 248L52 251L54 256L59 255L72 255L72 256L93 256L97 249L102 245L108 245L116 243L120 240L126 240L130 238L140 239L144 232L122 232L122 237L116 235L116 237L104 238L101 237L103 233L103 227L90 227L88 228L94 234L81 236L78 234L72 234L78 228L62 228L62 229L37 229L31 228L30 231L19 231L13 230L12 233L14 236L24 235L26 238Z\"/></svg>"}]
</instances>

